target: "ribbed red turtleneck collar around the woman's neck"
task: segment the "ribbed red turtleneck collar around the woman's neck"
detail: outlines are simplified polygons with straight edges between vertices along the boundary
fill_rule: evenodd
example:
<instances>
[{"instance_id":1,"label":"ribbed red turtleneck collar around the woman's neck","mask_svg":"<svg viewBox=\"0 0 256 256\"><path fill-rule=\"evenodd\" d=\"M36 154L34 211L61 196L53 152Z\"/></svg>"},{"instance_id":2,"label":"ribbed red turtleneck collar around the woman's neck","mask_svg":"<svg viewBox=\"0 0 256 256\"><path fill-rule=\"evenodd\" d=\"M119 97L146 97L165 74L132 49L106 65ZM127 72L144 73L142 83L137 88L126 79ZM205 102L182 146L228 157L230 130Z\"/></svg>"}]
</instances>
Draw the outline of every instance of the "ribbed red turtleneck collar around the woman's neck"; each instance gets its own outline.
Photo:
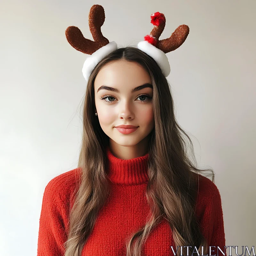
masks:
<instances>
[{"instance_id":1,"label":"ribbed red turtleneck collar around the woman's neck","mask_svg":"<svg viewBox=\"0 0 256 256\"><path fill-rule=\"evenodd\" d=\"M148 182L148 153L132 159L120 159L106 148L108 178L119 185L139 185Z\"/></svg>"}]
</instances>

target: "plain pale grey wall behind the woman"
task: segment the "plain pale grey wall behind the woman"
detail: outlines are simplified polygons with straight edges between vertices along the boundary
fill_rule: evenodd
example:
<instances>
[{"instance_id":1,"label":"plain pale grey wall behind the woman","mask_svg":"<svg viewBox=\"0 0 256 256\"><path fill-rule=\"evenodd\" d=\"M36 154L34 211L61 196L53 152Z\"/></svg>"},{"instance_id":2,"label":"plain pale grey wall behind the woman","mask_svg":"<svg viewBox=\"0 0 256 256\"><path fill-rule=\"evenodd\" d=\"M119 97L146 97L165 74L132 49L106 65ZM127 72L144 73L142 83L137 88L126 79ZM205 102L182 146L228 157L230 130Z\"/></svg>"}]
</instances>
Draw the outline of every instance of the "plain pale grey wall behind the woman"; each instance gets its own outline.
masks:
<instances>
[{"instance_id":1,"label":"plain pale grey wall behind the woman","mask_svg":"<svg viewBox=\"0 0 256 256\"><path fill-rule=\"evenodd\" d=\"M68 44L74 25L92 40L88 13L101 4L103 35L119 47L182 24L187 40L167 53L179 124L191 135L199 167L219 188L226 245L255 246L256 1L1 1L0 254L36 255L44 188L77 167L85 54Z\"/></svg>"}]
</instances>

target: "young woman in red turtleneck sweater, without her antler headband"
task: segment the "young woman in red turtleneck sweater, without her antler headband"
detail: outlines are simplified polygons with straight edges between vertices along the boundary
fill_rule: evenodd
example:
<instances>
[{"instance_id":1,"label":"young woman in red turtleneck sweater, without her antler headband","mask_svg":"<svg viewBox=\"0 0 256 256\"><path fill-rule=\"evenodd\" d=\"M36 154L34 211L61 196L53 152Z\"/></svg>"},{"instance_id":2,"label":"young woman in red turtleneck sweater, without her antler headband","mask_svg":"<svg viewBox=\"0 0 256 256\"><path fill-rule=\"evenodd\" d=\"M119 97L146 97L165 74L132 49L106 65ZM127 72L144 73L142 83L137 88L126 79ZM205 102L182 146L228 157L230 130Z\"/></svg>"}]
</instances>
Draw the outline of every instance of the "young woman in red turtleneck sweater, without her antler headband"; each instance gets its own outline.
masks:
<instances>
[{"instance_id":1,"label":"young woman in red turtleneck sweater, without her antler headband","mask_svg":"<svg viewBox=\"0 0 256 256\"><path fill-rule=\"evenodd\" d=\"M225 253L214 173L193 162L157 62L109 53L88 79L78 168L45 188L37 255Z\"/></svg>"}]
</instances>

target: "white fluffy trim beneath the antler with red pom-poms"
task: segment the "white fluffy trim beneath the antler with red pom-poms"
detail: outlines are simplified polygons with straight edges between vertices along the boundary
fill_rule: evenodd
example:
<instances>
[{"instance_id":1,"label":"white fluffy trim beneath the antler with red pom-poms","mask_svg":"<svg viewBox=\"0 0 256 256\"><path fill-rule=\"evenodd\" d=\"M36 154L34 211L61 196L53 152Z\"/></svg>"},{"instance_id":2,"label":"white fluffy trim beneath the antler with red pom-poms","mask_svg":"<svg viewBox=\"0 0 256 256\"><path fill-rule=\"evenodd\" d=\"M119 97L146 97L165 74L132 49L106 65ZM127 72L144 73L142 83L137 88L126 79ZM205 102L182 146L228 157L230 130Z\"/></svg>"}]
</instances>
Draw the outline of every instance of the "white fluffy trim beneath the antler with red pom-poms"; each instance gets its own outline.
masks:
<instances>
[{"instance_id":1,"label":"white fluffy trim beneath the antler with red pom-poms","mask_svg":"<svg viewBox=\"0 0 256 256\"><path fill-rule=\"evenodd\" d=\"M162 73L164 74L165 77L167 77L170 74L170 71L171 71L170 63L168 61L166 54L162 50L156 48L156 46L148 43L148 41L145 41L145 40L140 41L137 47L142 52L147 53L156 61L156 63L161 68Z\"/></svg>"}]
</instances>

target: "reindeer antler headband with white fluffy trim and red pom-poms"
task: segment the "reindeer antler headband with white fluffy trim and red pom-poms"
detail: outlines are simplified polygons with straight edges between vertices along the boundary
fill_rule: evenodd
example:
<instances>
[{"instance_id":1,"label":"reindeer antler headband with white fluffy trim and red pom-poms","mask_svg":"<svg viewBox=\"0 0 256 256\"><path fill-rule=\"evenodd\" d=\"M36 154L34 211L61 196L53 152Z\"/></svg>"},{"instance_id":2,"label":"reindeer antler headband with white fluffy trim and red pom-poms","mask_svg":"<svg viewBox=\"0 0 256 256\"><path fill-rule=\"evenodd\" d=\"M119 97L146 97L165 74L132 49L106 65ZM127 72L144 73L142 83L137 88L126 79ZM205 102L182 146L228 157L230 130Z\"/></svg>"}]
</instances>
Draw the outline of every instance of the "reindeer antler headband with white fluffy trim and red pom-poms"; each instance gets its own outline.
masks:
<instances>
[{"instance_id":1,"label":"reindeer antler headband with white fluffy trim and red pom-poms","mask_svg":"<svg viewBox=\"0 0 256 256\"><path fill-rule=\"evenodd\" d=\"M165 77L170 74L171 68L165 53L172 52L183 44L188 36L187 25L180 25L169 38L159 40L164 27L165 17L163 13L152 13L151 23L155 26L149 35L144 36L144 41L138 43L138 49L151 56L162 70ZM81 30L75 26L66 29L68 43L77 51L90 54L84 62L82 69L84 78L88 81L96 65L109 53L117 49L115 41L109 43L108 39L101 33L101 26L105 21L104 8L99 4L94 4L89 12L89 28L93 40L84 38Z\"/></svg>"}]
</instances>

